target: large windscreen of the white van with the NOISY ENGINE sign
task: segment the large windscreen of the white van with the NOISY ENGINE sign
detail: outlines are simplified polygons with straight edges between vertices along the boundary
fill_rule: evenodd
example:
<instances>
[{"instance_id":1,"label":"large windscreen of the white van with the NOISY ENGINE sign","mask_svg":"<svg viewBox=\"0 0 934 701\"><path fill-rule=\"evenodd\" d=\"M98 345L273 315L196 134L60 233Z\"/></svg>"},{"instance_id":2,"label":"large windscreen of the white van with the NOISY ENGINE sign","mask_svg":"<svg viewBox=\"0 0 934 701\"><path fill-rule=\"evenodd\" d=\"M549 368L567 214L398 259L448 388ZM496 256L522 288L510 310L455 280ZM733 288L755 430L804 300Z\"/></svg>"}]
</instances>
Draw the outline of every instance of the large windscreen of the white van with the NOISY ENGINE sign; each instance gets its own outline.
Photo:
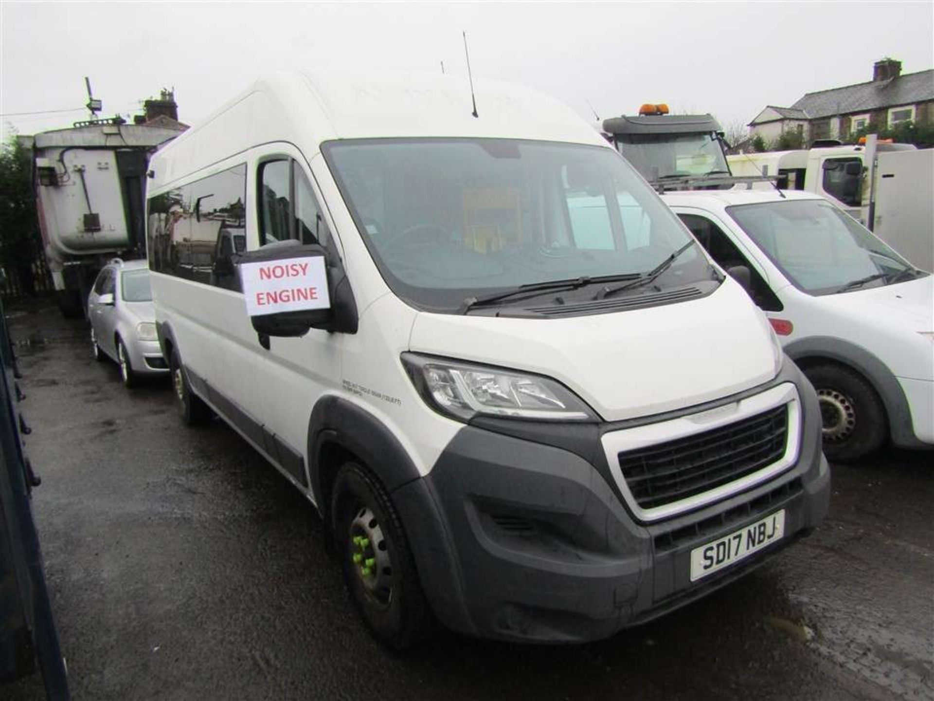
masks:
<instances>
[{"instance_id":1,"label":"large windscreen of the white van with the NOISY ENGINE sign","mask_svg":"<svg viewBox=\"0 0 934 701\"><path fill-rule=\"evenodd\" d=\"M611 149L509 139L322 146L392 290L417 308L551 280L652 271L690 235ZM655 281L710 279L696 248Z\"/></svg>"}]
</instances>

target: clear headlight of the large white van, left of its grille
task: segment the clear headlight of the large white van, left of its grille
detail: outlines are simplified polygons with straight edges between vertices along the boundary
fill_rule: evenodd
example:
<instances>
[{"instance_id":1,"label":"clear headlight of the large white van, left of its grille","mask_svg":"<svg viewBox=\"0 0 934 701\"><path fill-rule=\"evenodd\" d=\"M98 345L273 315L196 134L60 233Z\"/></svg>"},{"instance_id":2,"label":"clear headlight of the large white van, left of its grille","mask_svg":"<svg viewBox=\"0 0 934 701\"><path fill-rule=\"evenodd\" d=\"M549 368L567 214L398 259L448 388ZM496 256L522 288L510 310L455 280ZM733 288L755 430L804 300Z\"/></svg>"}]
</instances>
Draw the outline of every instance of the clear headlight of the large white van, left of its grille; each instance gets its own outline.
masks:
<instances>
[{"instance_id":1,"label":"clear headlight of the large white van, left of its grille","mask_svg":"<svg viewBox=\"0 0 934 701\"><path fill-rule=\"evenodd\" d=\"M469 422L477 414L538 421L597 421L584 402L554 379L488 365L403 353L422 399L440 414Z\"/></svg>"}]
</instances>

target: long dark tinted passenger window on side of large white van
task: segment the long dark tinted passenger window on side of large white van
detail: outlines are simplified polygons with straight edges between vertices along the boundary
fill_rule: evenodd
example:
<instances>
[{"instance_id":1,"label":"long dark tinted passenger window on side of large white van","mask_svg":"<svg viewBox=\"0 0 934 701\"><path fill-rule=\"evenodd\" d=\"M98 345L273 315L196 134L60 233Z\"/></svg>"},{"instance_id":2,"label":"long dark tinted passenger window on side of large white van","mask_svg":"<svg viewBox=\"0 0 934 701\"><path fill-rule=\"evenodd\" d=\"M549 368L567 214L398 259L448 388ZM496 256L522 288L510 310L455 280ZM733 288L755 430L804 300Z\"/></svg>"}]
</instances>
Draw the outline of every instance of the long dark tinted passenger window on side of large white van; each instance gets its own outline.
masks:
<instances>
[{"instance_id":1,"label":"long dark tinted passenger window on side of large white van","mask_svg":"<svg viewBox=\"0 0 934 701\"><path fill-rule=\"evenodd\" d=\"M149 198L150 269L239 291L233 256L246 248L247 165Z\"/></svg>"}]
</instances>

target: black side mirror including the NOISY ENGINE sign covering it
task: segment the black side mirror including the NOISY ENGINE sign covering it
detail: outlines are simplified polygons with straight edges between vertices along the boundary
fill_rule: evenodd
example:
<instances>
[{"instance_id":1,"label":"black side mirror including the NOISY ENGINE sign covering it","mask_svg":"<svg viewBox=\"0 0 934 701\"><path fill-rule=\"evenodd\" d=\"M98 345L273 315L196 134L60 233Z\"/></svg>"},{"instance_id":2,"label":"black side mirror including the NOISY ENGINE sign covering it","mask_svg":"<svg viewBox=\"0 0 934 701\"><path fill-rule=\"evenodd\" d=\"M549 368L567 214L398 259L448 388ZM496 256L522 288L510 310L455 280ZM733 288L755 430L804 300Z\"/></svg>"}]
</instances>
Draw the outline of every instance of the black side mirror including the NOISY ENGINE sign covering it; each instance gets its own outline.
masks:
<instances>
[{"instance_id":1,"label":"black side mirror including the NOISY ENGINE sign covering it","mask_svg":"<svg viewBox=\"0 0 934 701\"><path fill-rule=\"evenodd\" d=\"M356 333L357 307L339 261L322 246L281 241L235 257L250 322L262 336L309 329Z\"/></svg>"}]
</instances>

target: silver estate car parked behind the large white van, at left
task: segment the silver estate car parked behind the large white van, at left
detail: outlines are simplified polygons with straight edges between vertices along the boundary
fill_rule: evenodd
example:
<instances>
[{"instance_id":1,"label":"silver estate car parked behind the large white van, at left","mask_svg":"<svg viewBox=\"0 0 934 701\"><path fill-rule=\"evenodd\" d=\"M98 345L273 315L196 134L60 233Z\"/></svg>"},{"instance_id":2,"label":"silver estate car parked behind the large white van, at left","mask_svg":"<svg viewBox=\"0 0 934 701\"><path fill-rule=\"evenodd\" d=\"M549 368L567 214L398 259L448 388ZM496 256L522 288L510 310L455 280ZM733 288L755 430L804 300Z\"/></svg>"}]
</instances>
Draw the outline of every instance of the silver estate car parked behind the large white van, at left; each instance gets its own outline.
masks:
<instances>
[{"instance_id":1,"label":"silver estate car parked behind the large white van, at left","mask_svg":"<svg viewBox=\"0 0 934 701\"><path fill-rule=\"evenodd\" d=\"M120 365L120 379L133 387L143 375L161 375L168 365L156 338L156 317L146 261L114 258L88 295L94 358Z\"/></svg>"}]
</instances>

